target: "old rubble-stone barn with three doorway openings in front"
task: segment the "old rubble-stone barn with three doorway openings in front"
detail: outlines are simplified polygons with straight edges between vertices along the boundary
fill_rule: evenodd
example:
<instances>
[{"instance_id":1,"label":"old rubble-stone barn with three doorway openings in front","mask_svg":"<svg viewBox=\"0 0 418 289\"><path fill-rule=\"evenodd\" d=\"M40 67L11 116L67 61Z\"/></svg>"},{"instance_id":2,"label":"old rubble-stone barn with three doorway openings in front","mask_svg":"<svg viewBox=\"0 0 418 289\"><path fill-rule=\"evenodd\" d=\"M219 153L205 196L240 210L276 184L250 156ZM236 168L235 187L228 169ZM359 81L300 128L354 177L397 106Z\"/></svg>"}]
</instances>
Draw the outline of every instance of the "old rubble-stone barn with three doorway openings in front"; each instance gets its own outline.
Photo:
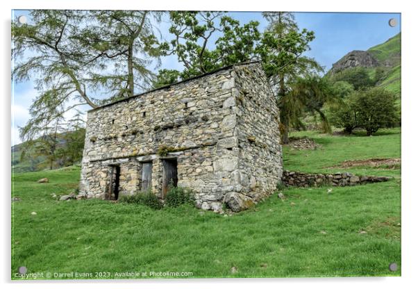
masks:
<instances>
[{"instance_id":1,"label":"old rubble-stone barn with three doorway openings in front","mask_svg":"<svg viewBox=\"0 0 418 289\"><path fill-rule=\"evenodd\" d=\"M118 199L169 185L198 208L248 208L282 176L279 115L260 63L242 63L87 114L81 194Z\"/></svg>"}]
</instances>

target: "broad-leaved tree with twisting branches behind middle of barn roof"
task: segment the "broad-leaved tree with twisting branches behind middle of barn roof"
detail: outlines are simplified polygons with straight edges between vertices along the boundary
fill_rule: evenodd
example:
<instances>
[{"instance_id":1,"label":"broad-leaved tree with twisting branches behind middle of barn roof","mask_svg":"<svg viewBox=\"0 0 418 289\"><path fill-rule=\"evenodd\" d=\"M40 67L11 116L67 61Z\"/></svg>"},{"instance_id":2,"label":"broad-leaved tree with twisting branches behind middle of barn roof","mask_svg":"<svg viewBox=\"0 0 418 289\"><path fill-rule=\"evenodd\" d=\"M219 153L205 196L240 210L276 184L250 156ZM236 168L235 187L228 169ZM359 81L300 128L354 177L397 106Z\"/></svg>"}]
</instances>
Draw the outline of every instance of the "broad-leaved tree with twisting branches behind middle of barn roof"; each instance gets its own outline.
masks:
<instances>
[{"instance_id":1,"label":"broad-leaved tree with twisting branches behind middle of barn roof","mask_svg":"<svg viewBox=\"0 0 418 289\"><path fill-rule=\"evenodd\" d=\"M161 47L176 54L188 79L220 67L253 59L260 39L258 22L240 22L221 12L170 12L174 39ZM212 49L210 49L212 47ZM165 73L165 72L162 72Z\"/></svg>"}]
</instances>

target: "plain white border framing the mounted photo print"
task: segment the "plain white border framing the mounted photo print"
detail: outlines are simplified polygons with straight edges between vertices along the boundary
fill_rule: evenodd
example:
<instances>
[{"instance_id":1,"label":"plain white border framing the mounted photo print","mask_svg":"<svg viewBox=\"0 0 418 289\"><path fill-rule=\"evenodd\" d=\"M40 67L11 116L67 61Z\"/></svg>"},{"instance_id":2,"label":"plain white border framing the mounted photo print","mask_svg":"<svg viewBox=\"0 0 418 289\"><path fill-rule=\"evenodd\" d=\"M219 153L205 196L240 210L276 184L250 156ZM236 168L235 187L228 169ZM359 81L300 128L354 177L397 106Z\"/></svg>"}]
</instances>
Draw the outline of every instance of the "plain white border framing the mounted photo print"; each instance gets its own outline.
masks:
<instances>
[{"instance_id":1,"label":"plain white border framing the mounted photo print","mask_svg":"<svg viewBox=\"0 0 418 289\"><path fill-rule=\"evenodd\" d=\"M6 3L7 2L7 3ZM91 287L92 281L76 281L70 284L60 282L10 282L10 15L12 9L53 8L53 9L144 9L144 10L284 10L299 12L391 12L402 13L402 277L378 278L326 278L326 279L191 279L191 280L135 280L135 281L94 281L101 288L253 288L260 283L263 288L296 286L309 288L353 288L358 286L376 288L408 288L417 284L417 209L418 192L416 178L417 163L417 9L413 1L272 1L272 0L177 0L177 1L133 1L133 0L14 0L1 1L1 57L0 69L2 116L1 135L1 281L3 288L79 288ZM8 140L8 141L6 141Z\"/></svg>"}]
</instances>

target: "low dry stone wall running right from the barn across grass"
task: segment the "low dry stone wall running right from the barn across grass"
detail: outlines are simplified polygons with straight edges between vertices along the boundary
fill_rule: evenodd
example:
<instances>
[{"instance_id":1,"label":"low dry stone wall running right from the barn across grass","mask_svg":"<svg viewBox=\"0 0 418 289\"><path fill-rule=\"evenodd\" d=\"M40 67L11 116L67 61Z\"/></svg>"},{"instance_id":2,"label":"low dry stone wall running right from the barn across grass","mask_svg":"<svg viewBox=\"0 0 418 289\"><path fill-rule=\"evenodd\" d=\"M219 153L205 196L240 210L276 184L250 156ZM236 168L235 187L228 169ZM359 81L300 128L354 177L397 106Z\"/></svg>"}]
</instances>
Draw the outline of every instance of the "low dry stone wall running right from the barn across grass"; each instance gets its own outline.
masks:
<instances>
[{"instance_id":1,"label":"low dry stone wall running right from the barn across grass","mask_svg":"<svg viewBox=\"0 0 418 289\"><path fill-rule=\"evenodd\" d=\"M362 185L365 183L379 183L389 181L387 176L357 176L349 172L336 174L309 174L304 172L283 171L283 184L295 187L318 187L320 185L333 185L345 187L347 185Z\"/></svg>"}]
</instances>

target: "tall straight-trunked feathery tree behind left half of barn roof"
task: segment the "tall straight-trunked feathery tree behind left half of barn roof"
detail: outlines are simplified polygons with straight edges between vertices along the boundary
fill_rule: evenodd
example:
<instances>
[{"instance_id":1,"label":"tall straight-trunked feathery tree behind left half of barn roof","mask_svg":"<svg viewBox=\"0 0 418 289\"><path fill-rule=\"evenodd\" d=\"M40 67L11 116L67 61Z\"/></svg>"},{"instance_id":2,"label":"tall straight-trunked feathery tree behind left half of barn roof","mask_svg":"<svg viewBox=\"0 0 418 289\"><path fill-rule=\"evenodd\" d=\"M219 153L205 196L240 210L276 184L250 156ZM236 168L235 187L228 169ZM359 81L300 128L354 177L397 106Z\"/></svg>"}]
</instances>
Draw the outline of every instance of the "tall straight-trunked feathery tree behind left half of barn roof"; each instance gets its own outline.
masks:
<instances>
[{"instance_id":1,"label":"tall straight-trunked feathery tree behind left half of barn roof","mask_svg":"<svg viewBox=\"0 0 418 289\"><path fill-rule=\"evenodd\" d=\"M162 13L137 10L94 10L92 23L82 29L78 42L96 57L96 65L111 72L92 73L92 85L108 88L112 100L149 89L153 72L148 68L162 55L152 20ZM105 56L105 57L102 57ZM111 61L109 61L111 60Z\"/></svg>"}]
</instances>

